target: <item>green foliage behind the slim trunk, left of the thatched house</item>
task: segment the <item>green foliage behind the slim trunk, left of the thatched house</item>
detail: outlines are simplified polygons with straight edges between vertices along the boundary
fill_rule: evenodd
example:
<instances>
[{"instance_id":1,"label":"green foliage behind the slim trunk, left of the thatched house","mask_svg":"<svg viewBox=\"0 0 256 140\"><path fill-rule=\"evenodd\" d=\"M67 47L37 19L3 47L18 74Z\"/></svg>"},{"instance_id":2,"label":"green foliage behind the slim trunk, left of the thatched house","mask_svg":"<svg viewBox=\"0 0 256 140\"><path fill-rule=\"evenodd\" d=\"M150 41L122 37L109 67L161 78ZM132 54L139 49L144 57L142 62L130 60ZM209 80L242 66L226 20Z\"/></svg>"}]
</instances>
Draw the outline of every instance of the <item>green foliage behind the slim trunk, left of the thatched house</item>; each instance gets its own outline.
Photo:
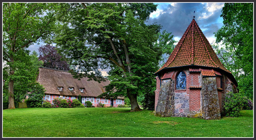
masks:
<instances>
[{"instance_id":1,"label":"green foliage behind the slim trunk, left of the thatched house","mask_svg":"<svg viewBox=\"0 0 256 140\"><path fill-rule=\"evenodd\" d=\"M28 55L28 50L22 54L23 55L21 56L23 57L20 58L19 61L12 63L12 65L15 64L15 67L17 68L13 75L9 75L10 68L12 67L12 65L10 66L10 63L7 62L7 64L4 65L3 68L3 79L6 81L3 87L3 100L8 101L8 83L11 79L13 79L15 107L18 106L18 103L21 102L21 100L26 98L26 94L28 92L32 92L33 90L35 90L35 94L43 93L42 91L40 91L39 93L38 90L40 89L40 85L36 82L38 68L39 66L42 66L42 61L38 61L36 55Z\"/></svg>"}]
</instances>

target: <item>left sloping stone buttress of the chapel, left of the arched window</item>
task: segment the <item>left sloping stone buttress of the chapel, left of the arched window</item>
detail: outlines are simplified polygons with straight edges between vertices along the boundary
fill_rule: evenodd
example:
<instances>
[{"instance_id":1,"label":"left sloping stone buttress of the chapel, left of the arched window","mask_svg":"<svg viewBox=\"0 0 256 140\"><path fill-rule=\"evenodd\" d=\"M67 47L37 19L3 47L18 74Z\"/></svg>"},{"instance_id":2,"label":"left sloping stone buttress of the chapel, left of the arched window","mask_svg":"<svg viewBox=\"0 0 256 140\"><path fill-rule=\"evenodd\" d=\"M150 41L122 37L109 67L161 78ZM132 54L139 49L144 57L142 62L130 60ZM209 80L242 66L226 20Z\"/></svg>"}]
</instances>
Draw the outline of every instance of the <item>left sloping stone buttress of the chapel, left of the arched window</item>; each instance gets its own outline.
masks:
<instances>
[{"instance_id":1,"label":"left sloping stone buttress of the chapel, left of the arched window","mask_svg":"<svg viewBox=\"0 0 256 140\"><path fill-rule=\"evenodd\" d=\"M174 86L173 79L162 80L155 116L174 116Z\"/></svg>"}]
</instances>

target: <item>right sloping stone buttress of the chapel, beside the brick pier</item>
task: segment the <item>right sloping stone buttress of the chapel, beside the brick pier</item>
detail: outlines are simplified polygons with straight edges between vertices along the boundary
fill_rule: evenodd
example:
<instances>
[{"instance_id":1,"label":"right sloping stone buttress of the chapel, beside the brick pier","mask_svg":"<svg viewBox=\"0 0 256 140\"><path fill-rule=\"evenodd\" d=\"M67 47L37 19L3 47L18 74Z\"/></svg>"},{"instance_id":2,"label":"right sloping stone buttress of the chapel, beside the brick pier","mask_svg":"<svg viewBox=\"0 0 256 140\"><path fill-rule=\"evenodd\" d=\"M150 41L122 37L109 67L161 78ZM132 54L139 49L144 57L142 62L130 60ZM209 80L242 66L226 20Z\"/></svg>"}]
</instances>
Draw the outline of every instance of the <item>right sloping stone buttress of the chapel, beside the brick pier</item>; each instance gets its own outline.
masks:
<instances>
[{"instance_id":1,"label":"right sloping stone buttress of the chapel, beside the brick pier","mask_svg":"<svg viewBox=\"0 0 256 140\"><path fill-rule=\"evenodd\" d=\"M220 119L218 92L215 77L202 78L202 117L204 119Z\"/></svg>"}]
</instances>

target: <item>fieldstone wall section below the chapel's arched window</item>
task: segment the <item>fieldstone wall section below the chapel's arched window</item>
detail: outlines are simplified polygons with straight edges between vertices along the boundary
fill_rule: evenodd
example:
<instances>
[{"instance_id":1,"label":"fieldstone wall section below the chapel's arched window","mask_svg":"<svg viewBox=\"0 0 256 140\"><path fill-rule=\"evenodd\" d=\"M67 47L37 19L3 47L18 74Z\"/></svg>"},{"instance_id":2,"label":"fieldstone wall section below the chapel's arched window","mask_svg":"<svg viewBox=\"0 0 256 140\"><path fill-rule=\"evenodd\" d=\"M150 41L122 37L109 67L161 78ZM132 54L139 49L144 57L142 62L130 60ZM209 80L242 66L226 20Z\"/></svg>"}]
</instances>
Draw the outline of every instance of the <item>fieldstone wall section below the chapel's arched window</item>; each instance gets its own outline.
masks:
<instances>
[{"instance_id":1,"label":"fieldstone wall section below the chapel's arched window","mask_svg":"<svg viewBox=\"0 0 256 140\"><path fill-rule=\"evenodd\" d=\"M189 96L187 92L175 93L175 117L188 117L189 116Z\"/></svg>"}]
</instances>

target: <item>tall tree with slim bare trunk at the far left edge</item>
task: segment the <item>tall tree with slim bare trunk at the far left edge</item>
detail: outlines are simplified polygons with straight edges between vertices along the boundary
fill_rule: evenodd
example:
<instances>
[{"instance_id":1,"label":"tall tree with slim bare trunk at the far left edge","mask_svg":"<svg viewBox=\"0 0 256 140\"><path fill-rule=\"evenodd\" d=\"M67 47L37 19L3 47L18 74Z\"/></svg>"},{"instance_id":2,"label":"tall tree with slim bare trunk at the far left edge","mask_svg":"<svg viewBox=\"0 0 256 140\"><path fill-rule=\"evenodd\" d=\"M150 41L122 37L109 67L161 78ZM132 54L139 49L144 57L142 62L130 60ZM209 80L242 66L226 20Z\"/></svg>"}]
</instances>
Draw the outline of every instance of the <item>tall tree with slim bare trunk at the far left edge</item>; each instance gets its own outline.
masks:
<instances>
[{"instance_id":1,"label":"tall tree with slim bare trunk at the far left edge","mask_svg":"<svg viewBox=\"0 0 256 140\"><path fill-rule=\"evenodd\" d=\"M9 109L14 109L14 72L25 48L50 37L55 28L54 3L3 3L3 59L10 67Z\"/></svg>"}]
</instances>

